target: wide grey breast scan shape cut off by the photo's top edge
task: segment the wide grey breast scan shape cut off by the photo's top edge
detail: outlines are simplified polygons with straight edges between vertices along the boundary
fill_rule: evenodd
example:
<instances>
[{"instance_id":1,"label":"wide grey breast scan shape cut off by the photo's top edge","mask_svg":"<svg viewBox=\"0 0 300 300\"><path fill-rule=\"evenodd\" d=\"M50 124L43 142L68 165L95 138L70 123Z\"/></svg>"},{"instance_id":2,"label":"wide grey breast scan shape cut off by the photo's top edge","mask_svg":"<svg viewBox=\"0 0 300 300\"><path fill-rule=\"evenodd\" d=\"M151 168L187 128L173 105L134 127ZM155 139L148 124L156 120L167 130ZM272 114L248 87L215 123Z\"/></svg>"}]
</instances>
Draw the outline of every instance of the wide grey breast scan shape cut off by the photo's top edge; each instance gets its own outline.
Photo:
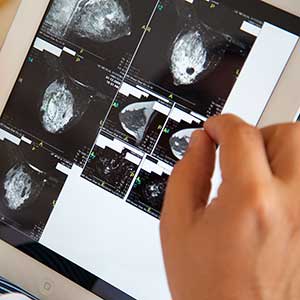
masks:
<instances>
[{"instance_id":1,"label":"wide grey breast scan shape cut off by the photo's top edge","mask_svg":"<svg viewBox=\"0 0 300 300\"><path fill-rule=\"evenodd\" d=\"M54 0L45 22L54 35L73 31L103 43L131 34L127 0Z\"/></svg>"}]
</instances>

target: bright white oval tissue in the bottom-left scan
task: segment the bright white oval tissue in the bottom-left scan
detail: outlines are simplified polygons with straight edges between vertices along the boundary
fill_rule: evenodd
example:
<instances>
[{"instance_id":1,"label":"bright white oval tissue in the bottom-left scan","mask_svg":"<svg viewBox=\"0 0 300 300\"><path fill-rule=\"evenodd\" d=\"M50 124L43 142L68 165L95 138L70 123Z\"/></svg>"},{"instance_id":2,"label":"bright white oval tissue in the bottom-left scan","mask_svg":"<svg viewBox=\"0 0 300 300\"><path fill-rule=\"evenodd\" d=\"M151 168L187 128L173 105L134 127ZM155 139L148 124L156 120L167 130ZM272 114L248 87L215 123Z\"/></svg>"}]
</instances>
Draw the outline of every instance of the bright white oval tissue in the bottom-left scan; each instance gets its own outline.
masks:
<instances>
[{"instance_id":1,"label":"bright white oval tissue in the bottom-left scan","mask_svg":"<svg viewBox=\"0 0 300 300\"><path fill-rule=\"evenodd\" d=\"M4 181L5 199L8 207L12 210L20 208L31 194L32 179L25 172L24 166L11 168Z\"/></svg>"}]
</instances>

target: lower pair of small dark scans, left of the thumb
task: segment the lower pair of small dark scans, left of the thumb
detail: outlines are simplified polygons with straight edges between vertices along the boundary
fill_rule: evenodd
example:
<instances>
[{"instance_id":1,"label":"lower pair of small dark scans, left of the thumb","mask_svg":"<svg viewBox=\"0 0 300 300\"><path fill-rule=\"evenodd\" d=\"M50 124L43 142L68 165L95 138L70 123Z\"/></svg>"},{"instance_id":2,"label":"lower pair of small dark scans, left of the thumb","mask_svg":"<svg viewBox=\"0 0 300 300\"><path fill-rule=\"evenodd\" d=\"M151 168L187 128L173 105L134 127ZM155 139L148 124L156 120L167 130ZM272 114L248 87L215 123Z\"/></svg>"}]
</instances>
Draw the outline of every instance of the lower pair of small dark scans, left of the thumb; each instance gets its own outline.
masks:
<instances>
[{"instance_id":1,"label":"lower pair of small dark scans, left of the thumb","mask_svg":"<svg viewBox=\"0 0 300 300\"><path fill-rule=\"evenodd\" d=\"M98 136L81 176L159 218L172 169L103 133Z\"/></svg>"}]
</instances>

